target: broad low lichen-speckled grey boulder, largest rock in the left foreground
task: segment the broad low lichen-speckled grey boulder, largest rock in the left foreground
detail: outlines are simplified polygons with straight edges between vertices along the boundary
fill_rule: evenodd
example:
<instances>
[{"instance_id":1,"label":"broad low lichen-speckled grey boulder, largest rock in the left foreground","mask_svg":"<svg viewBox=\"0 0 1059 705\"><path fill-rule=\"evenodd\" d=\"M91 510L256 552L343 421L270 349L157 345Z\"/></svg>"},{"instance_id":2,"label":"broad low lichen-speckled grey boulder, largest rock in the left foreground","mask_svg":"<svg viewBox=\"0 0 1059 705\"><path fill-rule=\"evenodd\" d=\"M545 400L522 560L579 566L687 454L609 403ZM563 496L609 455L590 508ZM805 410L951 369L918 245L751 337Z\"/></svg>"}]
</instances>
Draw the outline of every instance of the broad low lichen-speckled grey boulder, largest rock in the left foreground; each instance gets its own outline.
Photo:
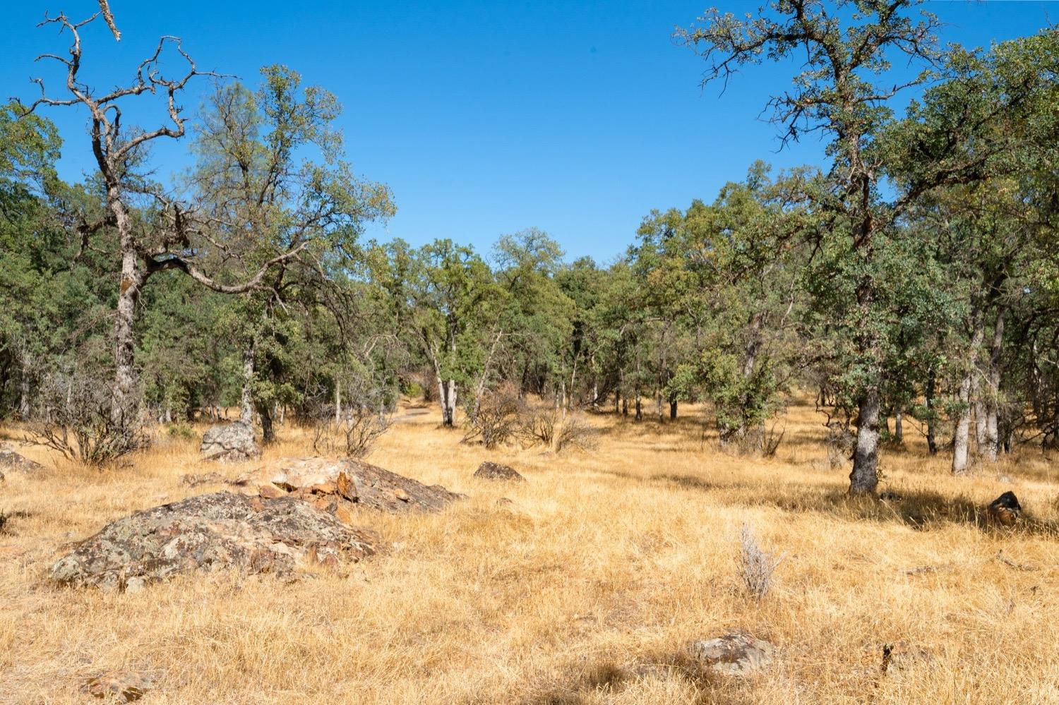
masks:
<instances>
[{"instance_id":1,"label":"broad low lichen-speckled grey boulder, largest rock in the left foreground","mask_svg":"<svg viewBox=\"0 0 1059 705\"><path fill-rule=\"evenodd\" d=\"M289 574L378 550L379 537L295 498L199 494L107 524L52 566L65 585L138 590L177 573L237 568Z\"/></svg>"}]
</instances>

